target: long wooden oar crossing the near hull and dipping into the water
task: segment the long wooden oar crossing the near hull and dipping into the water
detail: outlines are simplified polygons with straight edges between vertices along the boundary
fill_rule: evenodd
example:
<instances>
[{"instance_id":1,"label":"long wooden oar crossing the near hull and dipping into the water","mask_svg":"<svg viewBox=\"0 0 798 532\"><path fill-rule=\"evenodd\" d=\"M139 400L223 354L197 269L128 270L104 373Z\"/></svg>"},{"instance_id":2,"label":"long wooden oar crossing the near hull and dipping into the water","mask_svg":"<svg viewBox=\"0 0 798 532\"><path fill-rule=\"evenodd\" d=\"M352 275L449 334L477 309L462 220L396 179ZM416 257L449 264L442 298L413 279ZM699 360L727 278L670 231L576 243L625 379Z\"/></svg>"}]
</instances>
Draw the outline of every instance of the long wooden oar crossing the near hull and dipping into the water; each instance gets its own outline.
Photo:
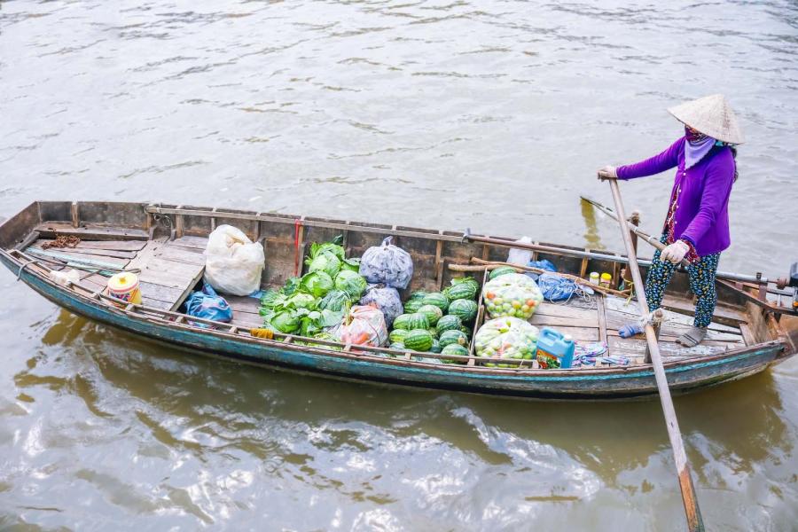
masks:
<instances>
[{"instance_id":1,"label":"long wooden oar crossing the near hull and dipping into the water","mask_svg":"<svg viewBox=\"0 0 798 532\"><path fill-rule=\"evenodd\" d=\"M621 189L618 187L618 182L614 179L609 179L608 181L610 188L613 191L615 211L618 213L618 223L621 225L623 243L626 245L627 254L629 254L629 267L631 270L632 280L635 284L635 291L638 295L640 316L647 317L649 314L648 302L645 301L643 278L640 276L638 257L635 254L634 247L632 246L629 223L626 221L626 214L623 212ZM647 322L645 324L645 340L648 342L648 348L651 352L651 362L653 365L654 377L657 381L657 389L660 391L662 412L665 414L665 426L668 427L670 447L673 449L673 458L677 465L679 487L682 489L682 501L685 504L685 514L687 516L687 528L691 531L703 530L704 521L701 520L698 498L696 498L695 488L692 486L690 466L687 464L687 455L685 454L685 443L682 442L682 433L679 431L679 423L677 421L676 411L673 408L673 400L670 398L668 377L665 375L665 368L662 366L660 345L657 343L657 337L653 326L651 323Z\"/></svg>"}]
</instances>

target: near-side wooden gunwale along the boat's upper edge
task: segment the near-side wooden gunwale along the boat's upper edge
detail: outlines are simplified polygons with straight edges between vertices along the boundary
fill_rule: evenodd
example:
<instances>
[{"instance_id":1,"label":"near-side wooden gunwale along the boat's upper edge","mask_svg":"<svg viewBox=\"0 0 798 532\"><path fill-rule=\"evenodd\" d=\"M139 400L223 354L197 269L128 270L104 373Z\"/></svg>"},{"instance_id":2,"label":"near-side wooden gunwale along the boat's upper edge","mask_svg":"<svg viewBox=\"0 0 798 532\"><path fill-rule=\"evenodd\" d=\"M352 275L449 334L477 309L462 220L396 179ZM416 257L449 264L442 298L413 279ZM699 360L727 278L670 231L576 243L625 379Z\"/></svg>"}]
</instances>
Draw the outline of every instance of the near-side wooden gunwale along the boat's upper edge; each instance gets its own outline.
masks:
<instances>
[{"instance_id":1,"label":"near-side wooden gunwale along the boat's upper edge","mask_svg":"<svg viewBox=\"0 0 798 532\"><path fill-rule=\"evenodd\" d=\"M283 349L286 351L293 351L293 352L301 352L313 356L317 356L321 359L329 358L335 360L348 360L348 361L368 361L373 363L379 364L389 364L389 365L396 365L400 367L407 367L407 368L415 368L421 370L431 370L434 369L438 372L447 372L452 375L462 375L462 374L473 374L478 375L480 377L484 377L485 375L495 375L498 377L529 377L529 378L541 378L546 377L548 379L557 379L557 380L570 380L570 379L581 379L581 378L588 378L589 376L594 376L596 378L604 378L604 379L614 379L620 377L629 376L630 373L640 373L640 377L645 377L646 372L652 373L653 366L652 364L634 364L629 366L607 366L607 367L590 367L590 368L569 368L569 369L559 369L559 370L550 370L550 369L534 369L534 368L497 368L497 367L488 367L488 366L480 366L480 365L461 365L461 364L430 364L415 360L408 360L406 358L407 355L411 354L410 351L398 351L395 349L390 348L369 348L368 350L362 350L359 352L353 351L334 351L331 349L324 349L324 348L313 348L311 346L301 346L293 344L293 340L291 343L286 343L285 340L267 340L256 338L252 336L244 336L239 334L238 332L231 332L231 331L224 331L224 330L215 330L215 329L206 329L196 325L192 325L190 323L178 323L172 320L166 319L165 315L176 315L182 316L186 321L203 321L208 322L211 325L218 325L221 327L225 327L227 329L232 329L236 327L240 329L236 325L231 325L223 322L215 322L213 320L205 320L202 318L192 317L183 313L179 312L171 312L166 310L160 309L153 309L150 307L146 307L145 305L132 305L129 304L128 301L121 301L121 303L127 304L129 307L135 309L143 309L145 311L152 312L153 315L143 315L141 313L135 312L133 310L127 309L120 309L114 305L106 304L102 302L102 299L107 299L110 301L115 300L115 298L110 297L105 294L99 294L101 299L95 299L94 297L90 297L80 293L80 291L86 293L92 293L88 288L84 286L73 286L72 289L66 288L65 286L60 286L59 284L52 281L48 276L43 275L40 271L35 269L29 268L26 266L25 262L20 262L20 260L16 259L11 253L6 251L5 249L0 249L0 256L3 256L7 261L11 261L14 266L17 267L18 270L24 269L24 273L26 275L32 275L42 282L43 284L50 286L51 289L54 289L58 292L65 293L67 297L77 298L78 300L82 301L84 304L88 303L91 306L96 307L97 309L113 314L118 314L123 317L128 318L135 318L137 320L147 322L147 321L155 321L157 324L176 329L176 330L184 330L189 332L201 332L204 334L209 334L211 336L218 337L223 340L233 340L233 341L242 341L250 344L255 345L263 345L270 348L278 348ZM38 264L34 264L36 267L43 269ZM80 289L79 290L76 290ZM290 334L279 334L283 338L292 338L292 339L303 339L303 337L293 336ZM344 344L340 344L339 342L327 342L325 340L315 340L315 339L307 339L310 341L315 341L317 343L326 343L330 344L335 347L341 347ZM733 359L735 356L744 356L749 353L753 353L756 350L763 349L763 348L775 348L781 346L781 352L783 353L784 349L786 348L786 341L782 339L777 340L767 340L764 342L758 342L754 345L745 346L742 348L734 348L728 349L722 353L716 353L713 355L704 355L704 356L685 356L683 360L676 360L676 361L669 361L664 364L666 371L670 372L683 372L689 371L693 364L713 364L724 362L730 359ZM372 354L373 352L381 352L387 354L394 354L397 355L397 358L388 358L386 356L379 356ZM429 354L426 354L429 355ZM446 356L447 358L454 358L457 356ZM470 360L471 356L463 356L464 360ZM773 362L782 360L785 356L774 356ZM498 363L508 363L514 359L502 359L502 358L485 358L485 357L478 357L473 356L473 359L479 360L480 362L498 362ZM269 365L268 363L263 365ZM637 376L637 375L636 375Z\"/></svg>"}]
</instances>

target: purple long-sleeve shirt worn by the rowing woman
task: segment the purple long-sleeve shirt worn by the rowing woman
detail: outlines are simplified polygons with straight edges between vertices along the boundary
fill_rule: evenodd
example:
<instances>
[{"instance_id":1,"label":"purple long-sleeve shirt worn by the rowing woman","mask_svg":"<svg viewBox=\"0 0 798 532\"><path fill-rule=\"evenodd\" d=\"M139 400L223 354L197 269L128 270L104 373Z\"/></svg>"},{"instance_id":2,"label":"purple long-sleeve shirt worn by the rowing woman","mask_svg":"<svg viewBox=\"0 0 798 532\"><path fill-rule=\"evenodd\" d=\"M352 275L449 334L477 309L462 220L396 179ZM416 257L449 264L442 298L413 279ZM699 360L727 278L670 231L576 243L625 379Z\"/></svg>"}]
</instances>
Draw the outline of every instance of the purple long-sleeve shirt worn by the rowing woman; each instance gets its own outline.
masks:
<instances>
[{"instance_id":1,"label":"purple long-sleeve shirt worn by the rowing woman","mask_svg":"<svg viewBox=\"0 0 798 532\"><path fill-rule=\"evenodd\" d=\"M729 237L729 195L734 182L734 157L728 146L716 146L685 170L685 137L659 155L616 169L619 179L653 176L677 167L670 200L677 198L673 238L685 239L700 257L720 253Z\"/></svg>"}]
</instances>

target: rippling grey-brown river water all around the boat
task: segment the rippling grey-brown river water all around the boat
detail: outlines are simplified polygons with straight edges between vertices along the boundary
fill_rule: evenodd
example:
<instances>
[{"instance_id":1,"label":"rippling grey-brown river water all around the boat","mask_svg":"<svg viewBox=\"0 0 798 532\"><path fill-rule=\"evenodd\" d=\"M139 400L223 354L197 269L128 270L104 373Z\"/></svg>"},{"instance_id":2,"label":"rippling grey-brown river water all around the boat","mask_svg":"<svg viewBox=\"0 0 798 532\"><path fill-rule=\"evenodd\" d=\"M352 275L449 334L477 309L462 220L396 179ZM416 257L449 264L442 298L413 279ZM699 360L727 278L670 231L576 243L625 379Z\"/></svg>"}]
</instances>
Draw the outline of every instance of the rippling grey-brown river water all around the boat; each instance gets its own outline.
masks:
<instances>
[{"instance_id":1,"label":"rippling grey-brown river water all around the boat","mask_svg":"<svg viewBox=\"0 0 798 532\"><path fill-rule=\"evenodd\" d=\"M798 259L794 2L0 2L0 215L162 200L620 249L595 168L724 92L724 270ZM656 232L671 176L623 185ZM194 358L0 274L0 528L681 529L657 403ZM677 399L713 529L798 522L798 365Z\"/></svg>"}]
</instances>

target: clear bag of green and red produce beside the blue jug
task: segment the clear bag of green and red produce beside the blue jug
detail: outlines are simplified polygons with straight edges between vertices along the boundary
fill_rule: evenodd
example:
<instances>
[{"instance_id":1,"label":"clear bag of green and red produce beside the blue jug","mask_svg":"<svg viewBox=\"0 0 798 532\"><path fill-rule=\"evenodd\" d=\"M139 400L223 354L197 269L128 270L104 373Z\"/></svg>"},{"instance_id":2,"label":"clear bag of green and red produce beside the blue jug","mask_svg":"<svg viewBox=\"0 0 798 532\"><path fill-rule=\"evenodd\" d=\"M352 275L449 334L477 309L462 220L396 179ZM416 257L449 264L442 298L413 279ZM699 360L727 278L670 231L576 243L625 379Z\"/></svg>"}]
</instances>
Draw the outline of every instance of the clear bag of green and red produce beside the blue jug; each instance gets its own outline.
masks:
<instances>
[{"instance_id":1,"label":"clear bag of green and red produce beside the blue jug","mask_svg":"<svg viewBox=\"0 0 798 532\"><path fill-rule=\"evenodd\" d=\"M474 352L476 356L532 360L537 349L538 334L535 325L530 325L518 317L498 317L485 322L473 337ZM485 365L512 367L516 364Z\"/></svg>"}]
</instances>

